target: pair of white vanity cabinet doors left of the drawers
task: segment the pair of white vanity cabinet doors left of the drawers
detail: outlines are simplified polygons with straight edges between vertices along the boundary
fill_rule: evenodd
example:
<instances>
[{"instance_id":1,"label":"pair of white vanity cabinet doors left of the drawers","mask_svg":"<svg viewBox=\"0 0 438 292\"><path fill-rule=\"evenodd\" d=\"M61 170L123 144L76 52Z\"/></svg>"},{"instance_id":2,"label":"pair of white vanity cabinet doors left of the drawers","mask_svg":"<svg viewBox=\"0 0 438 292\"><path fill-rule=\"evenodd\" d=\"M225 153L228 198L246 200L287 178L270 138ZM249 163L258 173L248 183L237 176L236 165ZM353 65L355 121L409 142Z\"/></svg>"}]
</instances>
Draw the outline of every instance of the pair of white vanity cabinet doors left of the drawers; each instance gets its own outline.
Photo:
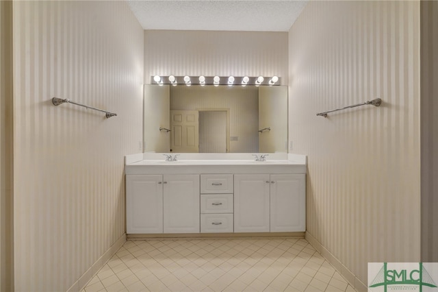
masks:
<instances>
[{"instance_id":1,"label":"pair of white vanity cabinet doors left of the drawers","mask_svg":"<svg viewBox=\"0 0 438 292\"><path fill-rule=\"evenodd\" d=\"M126 175L128 234L199 233L199 175Z\"/></svg>"}]
</instances>

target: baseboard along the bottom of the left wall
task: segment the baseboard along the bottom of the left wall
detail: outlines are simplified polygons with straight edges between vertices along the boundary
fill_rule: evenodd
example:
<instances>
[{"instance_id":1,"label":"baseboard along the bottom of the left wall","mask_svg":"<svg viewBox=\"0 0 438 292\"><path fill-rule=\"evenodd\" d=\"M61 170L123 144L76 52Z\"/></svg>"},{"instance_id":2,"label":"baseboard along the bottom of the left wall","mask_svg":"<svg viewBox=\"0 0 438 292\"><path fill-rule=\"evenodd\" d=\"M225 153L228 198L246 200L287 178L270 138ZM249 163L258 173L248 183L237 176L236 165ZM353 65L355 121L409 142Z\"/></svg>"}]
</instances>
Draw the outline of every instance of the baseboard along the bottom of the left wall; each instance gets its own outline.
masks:
<instances>
[{"instance_id":1,"label":"baseboard along the bottom of the left wall","mask_svg":"<svg viewBox=\"0 0 438 292\"><path fill-rule=\"evenodd\" d=\"M94 275L107 263L108 260L122 247L126 242L126 233L119 237L116 242L98 259L94 264L82 274L82 276L73 284L67 292L79 292L86 284L90 282Z\"/></svg>"}]
</instances>

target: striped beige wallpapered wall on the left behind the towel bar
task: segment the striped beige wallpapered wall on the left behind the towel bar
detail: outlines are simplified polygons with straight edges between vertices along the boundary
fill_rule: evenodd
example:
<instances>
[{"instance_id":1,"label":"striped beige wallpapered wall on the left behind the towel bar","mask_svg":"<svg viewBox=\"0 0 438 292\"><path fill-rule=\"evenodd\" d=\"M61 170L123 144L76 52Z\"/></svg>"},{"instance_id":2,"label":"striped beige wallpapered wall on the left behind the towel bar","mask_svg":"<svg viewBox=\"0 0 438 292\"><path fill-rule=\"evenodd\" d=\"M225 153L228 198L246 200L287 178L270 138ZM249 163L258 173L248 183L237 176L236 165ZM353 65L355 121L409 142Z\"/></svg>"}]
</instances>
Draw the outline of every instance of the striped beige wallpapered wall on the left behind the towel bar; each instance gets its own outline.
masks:
<instances>
[{"instance_id":1,"label":"striped beige wallpapered wall on the left behind the towel bar","mask_svg":"<svg viewBox=\"0 0 438 292\"><path fill-rule=\"evenodd\" d=\"M13 5L15 289L66 291L125 234L144 35L125 1Z\"/></svg>"}]
</instances>

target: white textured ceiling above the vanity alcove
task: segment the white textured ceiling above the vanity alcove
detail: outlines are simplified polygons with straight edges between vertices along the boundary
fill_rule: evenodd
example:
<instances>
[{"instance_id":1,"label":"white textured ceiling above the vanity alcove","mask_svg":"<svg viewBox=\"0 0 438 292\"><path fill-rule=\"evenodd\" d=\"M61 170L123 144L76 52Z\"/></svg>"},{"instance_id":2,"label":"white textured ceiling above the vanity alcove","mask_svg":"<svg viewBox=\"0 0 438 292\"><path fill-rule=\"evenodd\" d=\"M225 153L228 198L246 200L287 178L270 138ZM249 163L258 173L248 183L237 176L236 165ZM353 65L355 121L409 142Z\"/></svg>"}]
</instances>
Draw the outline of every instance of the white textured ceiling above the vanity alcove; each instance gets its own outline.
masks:
<instances>
[{"instance_id":1,"label":"white textured ceiling above the vanity alcove","mask_svg":"<svg viewBox=\"0 0 438 292\"><path fill-rule=\"evenodd\" d=\"M133 1L143 29L287 32L307 1Z\"/></svg>"}]
</instances>

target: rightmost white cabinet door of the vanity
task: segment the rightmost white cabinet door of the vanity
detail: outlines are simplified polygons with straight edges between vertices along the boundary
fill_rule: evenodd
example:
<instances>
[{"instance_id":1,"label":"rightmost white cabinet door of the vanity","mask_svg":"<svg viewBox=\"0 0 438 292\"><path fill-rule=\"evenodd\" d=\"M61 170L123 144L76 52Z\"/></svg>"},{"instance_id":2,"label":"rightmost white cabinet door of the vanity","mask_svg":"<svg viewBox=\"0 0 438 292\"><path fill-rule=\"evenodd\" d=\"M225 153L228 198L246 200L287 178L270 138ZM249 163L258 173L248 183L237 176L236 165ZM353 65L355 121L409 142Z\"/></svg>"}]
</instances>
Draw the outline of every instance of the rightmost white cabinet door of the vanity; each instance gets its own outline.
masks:
<instances>
[{"instance_id":1,"label":"rightmost white cabinet door of the vanity","mask_svg":"<svg viewBox=\"0 0 438 292\"><path fill-rule=\"evenodd\" d=\"M271 175L271 232L306 231L306 175Z\"/></svg>"}]
</instances>

